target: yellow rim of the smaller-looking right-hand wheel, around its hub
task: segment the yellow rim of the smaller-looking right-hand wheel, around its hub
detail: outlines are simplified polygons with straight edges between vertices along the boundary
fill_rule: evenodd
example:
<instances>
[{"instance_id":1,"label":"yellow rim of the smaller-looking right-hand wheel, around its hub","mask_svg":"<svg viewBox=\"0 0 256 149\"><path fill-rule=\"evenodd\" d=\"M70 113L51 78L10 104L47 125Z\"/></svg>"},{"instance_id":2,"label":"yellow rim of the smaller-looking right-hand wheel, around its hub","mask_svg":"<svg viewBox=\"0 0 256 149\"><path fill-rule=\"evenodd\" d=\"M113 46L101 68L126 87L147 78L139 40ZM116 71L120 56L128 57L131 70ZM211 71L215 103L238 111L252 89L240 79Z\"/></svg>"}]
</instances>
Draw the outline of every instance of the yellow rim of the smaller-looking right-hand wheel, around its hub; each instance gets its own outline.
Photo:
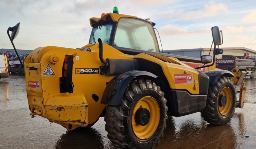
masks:
<instances>
[{"instance_id":1,"label":"yellow rim of the smaller-looking right-hand wheel, around its hub","mask_svg":"<svg viewBox=\"0 0 256 149\"><path fill-rule=\"evenodd\" d=\"M229 114L231 108L232 108L232 105L233 105L233 94L232 94L232 91L229 87L224 87L220 94L219 94L219 100L221 98L221 96L225 95L226 96L226 105L225 106L221 106L219 103L218 103L218 109L219 109L219 112L221 115L227 115ZM220 102L220 101L218 101Z\"/></svg>"}]
</instances>

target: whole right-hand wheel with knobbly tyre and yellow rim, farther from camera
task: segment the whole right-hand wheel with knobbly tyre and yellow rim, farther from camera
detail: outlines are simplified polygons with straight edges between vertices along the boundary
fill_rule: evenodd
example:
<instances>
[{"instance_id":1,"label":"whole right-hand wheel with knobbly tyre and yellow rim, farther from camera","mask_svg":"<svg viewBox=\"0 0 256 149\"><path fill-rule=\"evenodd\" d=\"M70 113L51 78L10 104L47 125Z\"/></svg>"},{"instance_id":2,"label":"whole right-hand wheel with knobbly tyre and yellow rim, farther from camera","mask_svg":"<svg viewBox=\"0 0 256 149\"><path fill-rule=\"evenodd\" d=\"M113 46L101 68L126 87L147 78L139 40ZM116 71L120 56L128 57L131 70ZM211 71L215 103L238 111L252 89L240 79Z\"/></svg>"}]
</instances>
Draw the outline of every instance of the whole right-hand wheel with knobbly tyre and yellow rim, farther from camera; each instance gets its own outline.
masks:
<instances>
[{"instance_id":1,"label":"whole right-hand wheel with knobbly tyre and yellow rim, farther from camera","mask_svg":"<svg viewBox=\"0 0 256 149\"><path fill-rule=\"evenodd\" d=\"M221 76L216 84L210 84L207 103L201 116L210 124L224 125L235 112L236 90L229 77Z\"/></svg>"}]
</instances>

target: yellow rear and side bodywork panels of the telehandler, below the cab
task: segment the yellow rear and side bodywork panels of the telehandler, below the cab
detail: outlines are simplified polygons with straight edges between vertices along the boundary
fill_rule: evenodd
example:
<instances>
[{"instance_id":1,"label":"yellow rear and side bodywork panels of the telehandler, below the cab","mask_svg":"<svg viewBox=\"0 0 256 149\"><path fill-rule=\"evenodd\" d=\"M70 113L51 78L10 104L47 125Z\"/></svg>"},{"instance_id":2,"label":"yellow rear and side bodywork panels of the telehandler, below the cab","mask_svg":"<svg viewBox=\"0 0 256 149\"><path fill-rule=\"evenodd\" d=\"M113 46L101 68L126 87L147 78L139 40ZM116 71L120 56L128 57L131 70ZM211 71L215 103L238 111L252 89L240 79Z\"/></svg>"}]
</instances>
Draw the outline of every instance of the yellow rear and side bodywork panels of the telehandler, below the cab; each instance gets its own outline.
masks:
<instances>
[{"instance_id":1,"label":"yellow rear and side bodywork panels of the telehandler, below the cab","mask_svg":"<svg viewBox=\"0 0 256 149\"><path fill-rule=\"evenodd\" d=\"M86 127L98 120L105 105L100 104L102 94L109 82L115 76L101 74L75 74L76 68L99 68L103 64L99 60L99 46L86 45L90 51L70 49L62 47L37 48L25 61L25 78L28 103L31 115L46 117L50 122L56 122L65 126L68 130L76 127ZM191 94L199 94L198 72L183 64L176 58L157 57L152 54L140 53L138 55L126 55L117 49L103 44L104 59L147 59L159 64L172 89L183 89ZM73 93L60 93L60 77L65 55L73 55ZM78 59L77 59L78 58ZM43 75L49 65L54 75ZM150 66L149 66L150 67ZM34 69L31 69L34 68ZM186 72L185 72L186 71ZM175 74L191 74L192 81L189 84L175 84ZM39 83L32 86L29 83ZM99 97L98 101L92 98L92 94ZM68 126L72 125L72 128Z\"/></svg>"}]
</instances>

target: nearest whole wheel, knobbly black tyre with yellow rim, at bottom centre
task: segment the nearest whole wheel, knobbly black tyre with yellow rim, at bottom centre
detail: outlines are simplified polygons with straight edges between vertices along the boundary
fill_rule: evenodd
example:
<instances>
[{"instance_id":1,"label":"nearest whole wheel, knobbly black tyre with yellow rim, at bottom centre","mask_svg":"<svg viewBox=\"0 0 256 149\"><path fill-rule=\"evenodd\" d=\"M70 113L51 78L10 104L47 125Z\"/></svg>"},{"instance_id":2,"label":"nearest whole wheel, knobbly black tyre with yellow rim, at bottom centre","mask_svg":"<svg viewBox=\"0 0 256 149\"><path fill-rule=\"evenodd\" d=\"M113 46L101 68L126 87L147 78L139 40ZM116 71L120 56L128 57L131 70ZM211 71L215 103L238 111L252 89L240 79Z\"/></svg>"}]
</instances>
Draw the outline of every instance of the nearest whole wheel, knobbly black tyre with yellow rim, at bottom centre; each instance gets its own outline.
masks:
<instances>
[{"instance_id":1,"label":"nearest whole wheel, knobbly black tyre with yellow rim, at bottom centre","mask_svg":"<svg viewBox=\"0 0 256 149\"><path fill-rule=\"evenodd\" d=\"M122 103L106 107L107 137L117 148L154 148L164 135L167 110L164 92L155 82L134 79Z\"/></svg>"}]
</instances>

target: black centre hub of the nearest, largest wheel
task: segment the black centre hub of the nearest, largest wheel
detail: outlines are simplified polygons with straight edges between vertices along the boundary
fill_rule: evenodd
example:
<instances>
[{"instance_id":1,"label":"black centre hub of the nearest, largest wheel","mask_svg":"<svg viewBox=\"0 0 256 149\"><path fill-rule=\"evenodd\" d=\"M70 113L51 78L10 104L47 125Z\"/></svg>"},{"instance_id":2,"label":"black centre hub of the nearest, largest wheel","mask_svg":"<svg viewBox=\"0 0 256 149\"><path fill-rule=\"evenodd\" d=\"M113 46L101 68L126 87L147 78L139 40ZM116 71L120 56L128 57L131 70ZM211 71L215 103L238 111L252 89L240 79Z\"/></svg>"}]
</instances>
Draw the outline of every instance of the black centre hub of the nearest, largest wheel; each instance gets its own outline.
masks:
<instances>
[{"instance_id":1,"label":"black centre hub of the nearest, largest wheel","mask_svg":"<svg viewBox=\"0 0 256 149\"><path fill-rule=\"evenodd\" d=\"M134 116L135 122L138 125L145 126L149 123L150 120L150 112L148 109L140 107Z\"/></svg>"}]
</instances>

